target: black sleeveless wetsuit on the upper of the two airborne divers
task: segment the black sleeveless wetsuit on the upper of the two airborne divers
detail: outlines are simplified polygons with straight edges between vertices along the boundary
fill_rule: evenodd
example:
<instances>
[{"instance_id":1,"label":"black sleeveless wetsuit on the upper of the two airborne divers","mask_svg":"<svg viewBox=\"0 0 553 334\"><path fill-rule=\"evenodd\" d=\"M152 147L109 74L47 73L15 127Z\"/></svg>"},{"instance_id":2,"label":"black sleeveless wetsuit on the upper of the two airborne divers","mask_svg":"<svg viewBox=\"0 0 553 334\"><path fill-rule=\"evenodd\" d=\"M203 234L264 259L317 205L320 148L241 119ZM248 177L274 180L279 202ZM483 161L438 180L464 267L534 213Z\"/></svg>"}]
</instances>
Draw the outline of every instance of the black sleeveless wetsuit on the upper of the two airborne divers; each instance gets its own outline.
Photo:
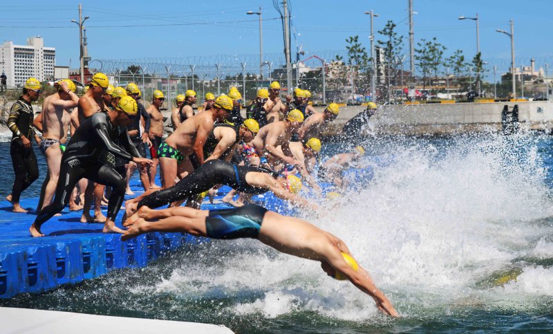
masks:
<instances>
[{"instance_id":1,"label":"black sleeveless wetsuit on the upper of the two airborne divers","mask_svg":"<svg viewBox=\"0 0 553 334\"><path fill-rule=\"evenodd\" d=\"M142 198L138 202L138 207L146 205L150 208L160 207L175 201L182 201L189 196L194 196L205 192L215 185L223 184L232 187L238 192L248 194L263 194L267 192L265 188L258 188L246 183L246 174L250 171L271 174L277 178L278 174L259 167L246 167L225 163L223 160L209 160L200 165L191 174L182 178L173 187L153 192L149 196Z\"/></svg>"}]
</instances>

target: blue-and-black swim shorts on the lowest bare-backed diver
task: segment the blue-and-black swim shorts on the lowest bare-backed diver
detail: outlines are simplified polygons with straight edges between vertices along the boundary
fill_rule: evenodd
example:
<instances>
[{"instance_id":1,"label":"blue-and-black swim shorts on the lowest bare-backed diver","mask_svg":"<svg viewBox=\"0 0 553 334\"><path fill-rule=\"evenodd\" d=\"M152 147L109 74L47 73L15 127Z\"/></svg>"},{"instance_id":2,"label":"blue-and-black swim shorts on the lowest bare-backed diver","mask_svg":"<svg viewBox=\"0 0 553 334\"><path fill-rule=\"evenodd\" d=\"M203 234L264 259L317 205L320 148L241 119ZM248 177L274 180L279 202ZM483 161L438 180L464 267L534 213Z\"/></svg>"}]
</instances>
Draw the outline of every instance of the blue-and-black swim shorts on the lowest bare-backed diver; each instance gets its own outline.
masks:
<instances>
[{"instance_id":1,"label":"blue-and-black swim shorts on the lowest bare-backed diver","mask_svg":"<svg viewBox=\"0 0 553 334\"><path fill-rule=\"evenodd\" d=\"M213 239L257 239L267 211L265 207L255 204L209 210L209 216L205 218L206 234Z\"/></svg>"}]
</instances>

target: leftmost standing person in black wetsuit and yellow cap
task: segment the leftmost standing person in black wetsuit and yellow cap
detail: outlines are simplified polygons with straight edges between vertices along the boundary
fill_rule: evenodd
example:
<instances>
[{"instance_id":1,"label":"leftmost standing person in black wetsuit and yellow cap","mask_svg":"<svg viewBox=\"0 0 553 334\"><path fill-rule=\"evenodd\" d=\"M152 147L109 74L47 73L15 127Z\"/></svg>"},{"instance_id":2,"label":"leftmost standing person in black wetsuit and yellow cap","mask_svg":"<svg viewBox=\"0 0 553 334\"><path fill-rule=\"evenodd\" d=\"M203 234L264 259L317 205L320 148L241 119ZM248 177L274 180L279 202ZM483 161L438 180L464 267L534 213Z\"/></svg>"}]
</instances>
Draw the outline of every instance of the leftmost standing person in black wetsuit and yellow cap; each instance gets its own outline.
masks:
<instances>
[{"instance_id":1,"label":"leftmost standing person in black wetsuit and yellow cap","mask_svg":"<svg viewBox=\"0 0 553 334\"><path fill-rule=\"evenodd\" d=\"M12 104L8 116L8 127L12 131L10 155L12 156L15 180L12 193L6 197L6 200L12 203L13 212L27 212L19 205L19 196L39 177L37 156L35 156L30 141L31 138L35 138L37 143L40 142L35 133L35 128L32 126L35 114L31 106L31 102L38 100L39 95L40 82L34 77L30 77L25 82L23 95Z\"/></svg>"}]
</instances>

